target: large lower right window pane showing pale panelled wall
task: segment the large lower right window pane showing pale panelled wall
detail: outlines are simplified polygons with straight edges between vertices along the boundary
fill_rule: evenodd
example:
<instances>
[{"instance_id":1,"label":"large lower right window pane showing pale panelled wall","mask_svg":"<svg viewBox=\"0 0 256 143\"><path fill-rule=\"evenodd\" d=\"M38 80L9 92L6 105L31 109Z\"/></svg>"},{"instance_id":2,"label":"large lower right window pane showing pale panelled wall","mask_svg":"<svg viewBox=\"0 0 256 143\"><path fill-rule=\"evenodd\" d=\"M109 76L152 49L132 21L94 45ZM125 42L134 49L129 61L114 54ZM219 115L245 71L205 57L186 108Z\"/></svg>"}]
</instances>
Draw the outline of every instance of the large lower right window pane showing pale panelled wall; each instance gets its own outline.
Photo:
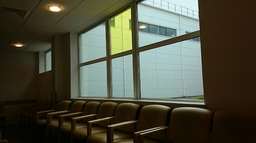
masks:
<instances>
[{"instance_id":1,"label":"large lower right window pane showing pale panelled wall","mask_svg":"<svg viewBox=\"0 0 256 143\"><path fill-rule=\"evenodd\" d=\"M204 95L200 42L186 40L139 53L141 98Z\"/></svg>"}]
</instances>

